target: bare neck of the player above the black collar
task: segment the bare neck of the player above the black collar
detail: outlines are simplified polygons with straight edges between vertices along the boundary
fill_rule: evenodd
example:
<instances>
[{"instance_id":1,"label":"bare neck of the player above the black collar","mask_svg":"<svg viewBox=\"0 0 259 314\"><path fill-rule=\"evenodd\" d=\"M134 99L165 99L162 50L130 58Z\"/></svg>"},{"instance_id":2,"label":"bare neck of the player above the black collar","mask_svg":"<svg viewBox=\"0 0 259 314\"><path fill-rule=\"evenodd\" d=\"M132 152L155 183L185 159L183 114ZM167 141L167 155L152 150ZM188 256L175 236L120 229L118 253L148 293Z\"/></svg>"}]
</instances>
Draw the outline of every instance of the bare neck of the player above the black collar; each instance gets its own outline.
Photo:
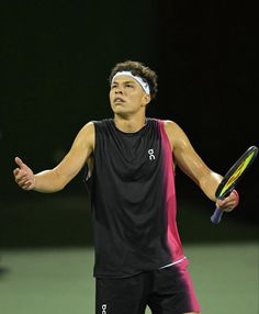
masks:
<instances>
[{"instance_id":1,"label":"bare neck of the player above the black collar","mask_svg":"<svg viewBox=\"0 0 259 314\"><path fill-rule=\"evenodd\" d=\"M115 126L125 133L134 133L139 131L146 124L146 116L139 116L138 119L125 119L114 115Z\"/></svg>"}]
</instances>

